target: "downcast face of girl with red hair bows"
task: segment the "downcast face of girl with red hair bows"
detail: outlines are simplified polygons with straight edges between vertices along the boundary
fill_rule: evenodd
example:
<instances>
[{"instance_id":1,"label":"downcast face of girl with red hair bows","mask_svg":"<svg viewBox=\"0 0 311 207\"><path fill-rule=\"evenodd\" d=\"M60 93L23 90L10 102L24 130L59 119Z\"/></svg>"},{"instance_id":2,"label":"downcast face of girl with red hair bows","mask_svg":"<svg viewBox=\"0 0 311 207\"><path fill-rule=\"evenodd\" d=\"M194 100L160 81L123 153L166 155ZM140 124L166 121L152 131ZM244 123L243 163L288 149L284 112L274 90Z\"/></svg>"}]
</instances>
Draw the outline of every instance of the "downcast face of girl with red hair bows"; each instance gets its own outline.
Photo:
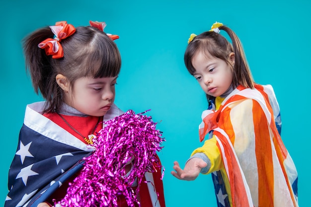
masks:
<instances>
[{"instance_id":1,"label":"downcast face of girl with red hair bows","mask_svg":"<svg viewBox=\"0 0 311 207\"><path fill-rule=\"evenodd\" d=\"M116 77L81 77L75 81L74 88L68 93L65 102L90 116L103 116L110 109L115 98ZM71 91L71 90L69 90Z\"/></svg>"}]
</instances>

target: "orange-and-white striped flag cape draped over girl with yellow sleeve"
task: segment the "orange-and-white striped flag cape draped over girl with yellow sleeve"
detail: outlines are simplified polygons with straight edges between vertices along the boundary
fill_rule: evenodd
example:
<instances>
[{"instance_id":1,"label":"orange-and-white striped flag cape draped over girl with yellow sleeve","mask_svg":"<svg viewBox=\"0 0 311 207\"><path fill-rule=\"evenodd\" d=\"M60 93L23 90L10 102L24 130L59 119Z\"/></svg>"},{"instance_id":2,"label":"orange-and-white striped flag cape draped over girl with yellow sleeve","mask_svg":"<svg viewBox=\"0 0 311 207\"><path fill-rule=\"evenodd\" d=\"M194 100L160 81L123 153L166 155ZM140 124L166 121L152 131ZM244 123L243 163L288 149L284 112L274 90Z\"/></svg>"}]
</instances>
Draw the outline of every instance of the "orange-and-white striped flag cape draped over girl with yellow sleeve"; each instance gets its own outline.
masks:
<instances>
[{"instance_id":1,"label":"orange-and-white striped flag cape draped over girl with yellow sleeve","mask_svg":"<svg viewBox=\"0 0 311 207\"><path fill-rule=\"evenodd\" d=\"M271 85L239 85L202 119L200 140L208 133L217 139L233 207L298 207L298 174L280 137L280 110ZM212 173L218 206L230 207L220 201L220 190L226 192L217 175Z\"/></svg>"}]
</instances>

